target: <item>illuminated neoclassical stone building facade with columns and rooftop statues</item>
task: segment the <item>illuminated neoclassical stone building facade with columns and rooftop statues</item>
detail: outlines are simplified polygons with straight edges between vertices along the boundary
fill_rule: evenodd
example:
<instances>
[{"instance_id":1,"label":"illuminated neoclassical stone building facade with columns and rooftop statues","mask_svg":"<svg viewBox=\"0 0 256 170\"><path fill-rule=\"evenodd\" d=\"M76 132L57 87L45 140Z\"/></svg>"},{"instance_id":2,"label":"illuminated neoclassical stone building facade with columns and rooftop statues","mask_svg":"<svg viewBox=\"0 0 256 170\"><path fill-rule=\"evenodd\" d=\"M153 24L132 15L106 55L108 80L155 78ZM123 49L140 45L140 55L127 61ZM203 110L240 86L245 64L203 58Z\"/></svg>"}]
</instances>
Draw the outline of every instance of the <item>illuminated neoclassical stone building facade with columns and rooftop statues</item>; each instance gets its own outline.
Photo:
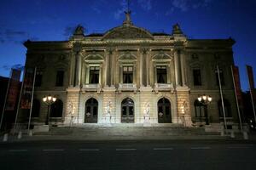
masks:
<instances>
[{"instance_id":1,"label":"illuminated neoclassical stone building facade with columns and rooftop statues","mask_svg":"<svg viewBox=\"0 0 256 170\"><path fill-rule=\"evenodd\" d=\"M25 42L26 67L37 67L32 121L44 123L44 95L55 95L50 122L181 123L223 121L216 66L229 122L236 122L229 39L189 39L180 26L152 33L125 21L103 34L78 26L68 41ZM197 101L212 96L211 104Z\"/></svg>"}]
</instances>

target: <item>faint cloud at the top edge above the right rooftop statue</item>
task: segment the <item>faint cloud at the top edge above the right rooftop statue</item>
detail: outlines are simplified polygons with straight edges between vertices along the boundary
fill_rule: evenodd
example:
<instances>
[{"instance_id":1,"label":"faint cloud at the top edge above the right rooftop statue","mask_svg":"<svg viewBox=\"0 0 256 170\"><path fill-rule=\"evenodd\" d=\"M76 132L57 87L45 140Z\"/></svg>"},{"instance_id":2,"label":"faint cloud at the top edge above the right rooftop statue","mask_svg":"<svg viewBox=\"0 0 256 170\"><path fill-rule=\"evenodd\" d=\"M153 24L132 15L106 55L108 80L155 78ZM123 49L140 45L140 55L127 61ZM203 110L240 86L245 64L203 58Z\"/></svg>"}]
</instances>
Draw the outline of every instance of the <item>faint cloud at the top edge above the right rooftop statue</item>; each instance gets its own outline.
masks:
<instances>
[{"instance_id":1,"label":"faint cloud at the top edge above the right rooftop statue","mask_svg":"<svg viewBox=\"0 0 256 170\"><path fill-rule=\"evenodd\" d=\"M189 9L207 7L213 0L171 0L172 7L166 11L166 15L172 14L177 9L182 12L189 11Z\"/></svg>"}]
</instances>

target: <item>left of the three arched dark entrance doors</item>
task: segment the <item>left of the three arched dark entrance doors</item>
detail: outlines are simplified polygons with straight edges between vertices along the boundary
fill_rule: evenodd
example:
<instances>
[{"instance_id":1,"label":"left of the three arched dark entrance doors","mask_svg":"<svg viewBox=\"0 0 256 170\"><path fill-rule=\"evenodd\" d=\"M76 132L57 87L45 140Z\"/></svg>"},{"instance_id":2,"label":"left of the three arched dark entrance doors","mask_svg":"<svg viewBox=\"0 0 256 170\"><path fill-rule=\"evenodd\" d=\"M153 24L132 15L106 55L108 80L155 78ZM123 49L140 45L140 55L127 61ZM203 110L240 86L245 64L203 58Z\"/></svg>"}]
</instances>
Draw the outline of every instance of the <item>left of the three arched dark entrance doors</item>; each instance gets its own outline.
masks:
<instances>
[{"instance_id":1,"label":"left of the three arched dark entrance doors","mask_svg":"<svg viewBox=\"0 0 256 170\"><path fill-rule=\"evenodd\" d=\"M98 102L90 98L85 103L84 122L96 123L98 121Z\"/></svg>"}]
</instances>

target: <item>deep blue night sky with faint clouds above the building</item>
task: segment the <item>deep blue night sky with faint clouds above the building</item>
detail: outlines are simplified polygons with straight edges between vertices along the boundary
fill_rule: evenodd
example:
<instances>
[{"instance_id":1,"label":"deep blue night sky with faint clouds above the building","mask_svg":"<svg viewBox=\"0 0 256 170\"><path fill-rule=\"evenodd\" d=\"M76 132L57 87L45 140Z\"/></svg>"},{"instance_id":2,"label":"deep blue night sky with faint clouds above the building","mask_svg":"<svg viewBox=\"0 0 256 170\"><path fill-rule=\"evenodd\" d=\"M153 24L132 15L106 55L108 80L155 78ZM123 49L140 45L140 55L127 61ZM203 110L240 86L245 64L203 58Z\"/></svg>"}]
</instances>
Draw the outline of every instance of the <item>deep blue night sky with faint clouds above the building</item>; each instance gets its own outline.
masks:
<instances>
[{"instance_id":1,"label":"deep blue night sky with faint clouds above the building","mask_svg":"<svg viewBox=\"0 0 256 170\"><path fill-rule=\"evenodd\" d=\"M245 65L256 70L256 0L131 0L134 25L152 32L172 32L179 23L189 38L236 40L235 64L241 87L248 89ZM122 24L125 0L1 0L0 76L24 65L22 42L67 40L78 24L85 34ZM256 78L256 77L255 77Z\"/></svg>"}]
</instances>

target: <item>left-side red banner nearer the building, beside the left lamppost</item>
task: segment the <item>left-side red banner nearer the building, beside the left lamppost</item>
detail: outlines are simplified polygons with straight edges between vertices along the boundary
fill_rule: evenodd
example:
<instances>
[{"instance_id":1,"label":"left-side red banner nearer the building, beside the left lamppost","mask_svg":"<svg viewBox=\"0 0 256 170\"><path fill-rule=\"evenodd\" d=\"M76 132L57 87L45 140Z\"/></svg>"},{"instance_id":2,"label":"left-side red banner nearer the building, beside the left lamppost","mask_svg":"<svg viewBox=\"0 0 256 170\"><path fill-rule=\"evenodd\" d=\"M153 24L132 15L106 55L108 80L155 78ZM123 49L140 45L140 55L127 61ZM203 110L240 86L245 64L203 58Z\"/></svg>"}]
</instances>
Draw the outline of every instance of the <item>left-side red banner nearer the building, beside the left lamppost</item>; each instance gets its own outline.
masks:
<instances>
[{"instance_id":1,"label":"left-side red banner nearer the building, beside the left lamppost","mask_svg":"<svg viewBox=\"0 0 256 170\"><path fill-rule=\"evenodd\" d=\"M33 81L34 81L34 69L26 68L24 82L23 82L23 89L21 94L21 102L20 102L21 109L30 109L31 101L32 101Z\"/></svg>"}]
</instances>

